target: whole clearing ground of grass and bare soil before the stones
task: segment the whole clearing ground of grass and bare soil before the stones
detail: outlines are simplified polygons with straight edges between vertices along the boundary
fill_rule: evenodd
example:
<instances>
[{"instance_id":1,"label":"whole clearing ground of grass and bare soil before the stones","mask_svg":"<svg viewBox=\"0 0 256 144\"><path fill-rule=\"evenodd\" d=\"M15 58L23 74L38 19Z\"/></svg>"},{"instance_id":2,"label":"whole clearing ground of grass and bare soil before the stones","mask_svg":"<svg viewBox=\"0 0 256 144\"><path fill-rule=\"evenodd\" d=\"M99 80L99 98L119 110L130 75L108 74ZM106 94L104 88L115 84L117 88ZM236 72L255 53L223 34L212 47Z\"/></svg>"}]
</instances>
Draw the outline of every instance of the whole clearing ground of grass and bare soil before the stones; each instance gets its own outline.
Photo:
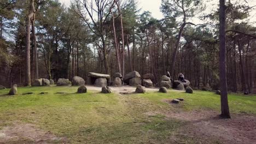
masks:
<instances>
[{"instance_id":1,"label":"whole clearing ground of grass and bare soil before the stones","mask_svg":"<svg viewBox=\"0 0 256 144\"><path fill-rule=\"evenodd\" d=\"M78 94L77 88L19 87L15 96L0 90L0 143L256 142L256 95L229 94L232 118L220 119L213 92L134 94L126 86L102 94L87 86ZM174 98L184 101L171 104Z\"/></svg>"}]
</instances>

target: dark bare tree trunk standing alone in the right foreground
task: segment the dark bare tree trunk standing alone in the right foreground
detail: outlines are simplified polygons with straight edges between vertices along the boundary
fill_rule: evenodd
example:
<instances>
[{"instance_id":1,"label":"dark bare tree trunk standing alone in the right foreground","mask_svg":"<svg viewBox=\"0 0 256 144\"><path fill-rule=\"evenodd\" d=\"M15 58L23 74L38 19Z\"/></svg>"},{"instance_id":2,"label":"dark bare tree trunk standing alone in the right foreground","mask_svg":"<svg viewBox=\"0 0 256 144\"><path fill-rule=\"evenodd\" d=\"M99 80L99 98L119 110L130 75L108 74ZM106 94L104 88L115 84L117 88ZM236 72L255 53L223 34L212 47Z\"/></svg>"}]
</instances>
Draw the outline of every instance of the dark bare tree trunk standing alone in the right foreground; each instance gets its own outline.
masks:
<instances>
[{"instance_id":1,"label":"dark bare tree trunk standing alone in the right foreground","mask_svg":"<svg viewBox=\"0 0 256 144\"><path fill-rule=\"evenodd\" d=\"M226 33L225 33L225 0L219 0L219 78L220 103L223 118L230 118L228 104L228 86L226 83Z\"/></svg>"}]
</instances>

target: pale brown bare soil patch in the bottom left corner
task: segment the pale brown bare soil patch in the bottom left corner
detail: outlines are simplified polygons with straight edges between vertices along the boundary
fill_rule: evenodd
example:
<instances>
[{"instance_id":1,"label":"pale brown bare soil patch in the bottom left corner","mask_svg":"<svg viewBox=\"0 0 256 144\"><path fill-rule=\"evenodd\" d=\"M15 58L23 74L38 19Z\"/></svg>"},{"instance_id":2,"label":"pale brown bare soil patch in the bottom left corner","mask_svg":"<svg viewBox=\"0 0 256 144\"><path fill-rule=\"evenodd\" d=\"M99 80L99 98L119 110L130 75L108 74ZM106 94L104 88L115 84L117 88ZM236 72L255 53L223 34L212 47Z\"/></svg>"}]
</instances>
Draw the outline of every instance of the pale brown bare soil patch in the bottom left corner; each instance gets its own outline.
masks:
<instances>
[{"instance_id":1,"label":"pale brown bare soil patch in the bottom left corner","mask_svg":"<svg viewBox=\"0 0 256 144\"><path fill-rule=\"evenodd\" d=\"M33 124L14 123L0 130L0 143L67 143L67 139L36 128Z\"/></svg>"}]
</instances>

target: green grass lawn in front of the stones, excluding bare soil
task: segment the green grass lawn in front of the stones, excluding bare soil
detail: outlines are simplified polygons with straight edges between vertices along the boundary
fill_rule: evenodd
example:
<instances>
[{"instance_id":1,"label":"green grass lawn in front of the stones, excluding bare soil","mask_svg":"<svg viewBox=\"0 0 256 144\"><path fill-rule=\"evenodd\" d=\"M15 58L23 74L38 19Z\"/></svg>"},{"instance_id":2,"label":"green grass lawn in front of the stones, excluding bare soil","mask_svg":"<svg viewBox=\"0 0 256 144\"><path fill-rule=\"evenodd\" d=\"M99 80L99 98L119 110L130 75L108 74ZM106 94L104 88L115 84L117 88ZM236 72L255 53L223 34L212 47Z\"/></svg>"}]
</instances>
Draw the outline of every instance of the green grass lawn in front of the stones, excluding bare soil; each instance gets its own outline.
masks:
<instances>
[{"instance_id":1,"label":"green grass lawn in front of the stones, excluding bare soil","mask_svg":"<svg viewBox=\"0 0 256 144\"><path fill-rule=\"evenodd\" d=\"M66 137L68 143L168 143L185 122L147 113L220 111L220 96L213 92L78 94L77 88L19 87L15 96L6 95L9 89L0 90L0 130L13 123L32 123L56 136ZM33 94L24 94L27 92ZM165 102L174 98L185 101ZM233 114L256 115L256 95L229 94L229 105Z\"/></svg>"}]
</instances>

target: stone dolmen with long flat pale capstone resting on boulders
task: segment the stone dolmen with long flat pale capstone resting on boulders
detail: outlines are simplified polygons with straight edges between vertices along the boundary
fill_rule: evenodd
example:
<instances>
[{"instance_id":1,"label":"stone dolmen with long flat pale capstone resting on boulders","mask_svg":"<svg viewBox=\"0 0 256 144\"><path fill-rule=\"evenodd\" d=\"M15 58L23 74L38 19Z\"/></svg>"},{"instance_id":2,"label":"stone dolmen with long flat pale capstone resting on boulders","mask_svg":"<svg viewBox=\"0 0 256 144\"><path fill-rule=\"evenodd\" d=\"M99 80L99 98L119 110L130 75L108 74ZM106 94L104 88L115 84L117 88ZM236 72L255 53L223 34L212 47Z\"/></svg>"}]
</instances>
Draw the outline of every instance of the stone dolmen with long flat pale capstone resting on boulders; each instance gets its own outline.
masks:
<instances>
[{"instance_id":1,"label":"stone dolmen with long flat pale capstone resting on boulders","mask_svg":"<svg viewBox=\"0 0 256 144\"><path fill-rule=\"evenodd\" d=\"M88 80L90 85L95 85L96 87L107 86L110 82L110 75L98 74L98 73L89 73Z\"/></svg>"}]
</instances>

